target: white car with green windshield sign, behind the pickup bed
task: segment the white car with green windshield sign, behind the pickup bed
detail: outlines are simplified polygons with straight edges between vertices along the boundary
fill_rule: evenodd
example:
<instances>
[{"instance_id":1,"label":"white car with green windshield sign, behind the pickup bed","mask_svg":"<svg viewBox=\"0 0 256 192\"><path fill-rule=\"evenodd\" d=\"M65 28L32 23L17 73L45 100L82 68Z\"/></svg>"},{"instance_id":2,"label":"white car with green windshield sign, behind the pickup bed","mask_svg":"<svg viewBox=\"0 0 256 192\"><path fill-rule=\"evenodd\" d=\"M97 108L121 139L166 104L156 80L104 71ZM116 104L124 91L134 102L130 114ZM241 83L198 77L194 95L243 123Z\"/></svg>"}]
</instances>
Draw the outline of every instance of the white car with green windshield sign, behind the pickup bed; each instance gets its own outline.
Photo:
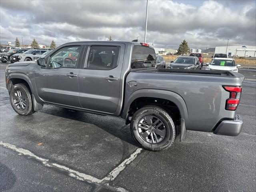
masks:
<instances>
[{"instance_id":1,"label":"white car with green windshield sign, behind the pickup bed","mask_svg":"<svg viewBox=\"0 0 256 192\"><path fill-rule=\"evenodd\" d=\"M206 70L226 70L238 72L241 65L236 65L233 58L214 58L212 62L206 63Z\"/></svg>"}]
</instances>

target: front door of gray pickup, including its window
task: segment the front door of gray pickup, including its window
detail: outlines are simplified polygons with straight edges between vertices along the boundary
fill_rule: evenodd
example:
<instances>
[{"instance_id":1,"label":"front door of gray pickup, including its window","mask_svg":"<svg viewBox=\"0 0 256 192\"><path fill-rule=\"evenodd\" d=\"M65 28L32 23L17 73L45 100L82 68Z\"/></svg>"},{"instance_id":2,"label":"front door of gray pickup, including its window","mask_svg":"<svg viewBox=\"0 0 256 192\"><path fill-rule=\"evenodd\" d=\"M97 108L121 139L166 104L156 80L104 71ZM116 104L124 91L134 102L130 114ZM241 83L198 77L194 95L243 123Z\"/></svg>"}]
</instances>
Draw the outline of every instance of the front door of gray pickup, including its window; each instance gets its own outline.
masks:
<instances>
[{"instance_id":1,"label":"front door of gray pickup, including its window","mask_svg":"<svg viewBox=\"0 0 256 192\"><path fill-rule=\"evenodd\" d=\"M45 102L81 107L78 99L78 63L81 46L66 46L47 58L46 68L35 72L38 96Z\"/></svg>"}]
</instances>

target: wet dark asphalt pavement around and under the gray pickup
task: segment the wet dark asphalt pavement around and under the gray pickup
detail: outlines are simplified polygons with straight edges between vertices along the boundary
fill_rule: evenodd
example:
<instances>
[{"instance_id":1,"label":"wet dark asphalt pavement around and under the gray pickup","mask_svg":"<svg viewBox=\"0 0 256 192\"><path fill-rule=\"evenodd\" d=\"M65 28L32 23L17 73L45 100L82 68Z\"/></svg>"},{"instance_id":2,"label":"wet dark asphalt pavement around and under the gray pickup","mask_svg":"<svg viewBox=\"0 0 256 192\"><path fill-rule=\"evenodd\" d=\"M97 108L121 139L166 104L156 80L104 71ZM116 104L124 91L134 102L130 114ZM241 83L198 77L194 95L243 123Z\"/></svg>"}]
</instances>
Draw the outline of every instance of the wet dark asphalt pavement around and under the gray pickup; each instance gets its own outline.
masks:
<instances>
[{"instance_id":1,"label":"wet dark asphalt pavement around and under the gray pickup","mask_svg":"<svg viewBox=\"0 0 256 192\"><path fill-rule=\"evenodd\" d=\"M0 64L0 191L254 192L256 70L244 74L237 137L188 131L162 152L138 147L121 118L45 105L19 116Z\"/></svg>"}]
</instances>

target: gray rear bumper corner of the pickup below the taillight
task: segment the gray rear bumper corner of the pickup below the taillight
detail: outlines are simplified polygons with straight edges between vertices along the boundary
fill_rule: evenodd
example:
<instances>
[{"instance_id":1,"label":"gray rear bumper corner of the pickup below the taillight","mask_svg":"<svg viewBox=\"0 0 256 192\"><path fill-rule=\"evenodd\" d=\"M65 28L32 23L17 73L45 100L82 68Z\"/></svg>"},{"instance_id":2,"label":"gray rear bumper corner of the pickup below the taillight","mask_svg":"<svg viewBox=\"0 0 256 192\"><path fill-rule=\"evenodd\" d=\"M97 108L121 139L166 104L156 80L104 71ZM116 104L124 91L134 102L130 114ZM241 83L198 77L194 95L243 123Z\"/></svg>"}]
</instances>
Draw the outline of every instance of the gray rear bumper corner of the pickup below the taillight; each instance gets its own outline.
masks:
<instances>
[{"instance_id":1,"label":"gray rear bumper corner of the pickup below the taillight","mask_svg":"<svg viewBox=\"0 0 256 192\"><path fill-rule=\"evenodd\" d=\"M236 116L234 120L224 120L214 130L214 134L238 136L242 130L243 121L240 116Z\"/></svg>"}]
</instances>

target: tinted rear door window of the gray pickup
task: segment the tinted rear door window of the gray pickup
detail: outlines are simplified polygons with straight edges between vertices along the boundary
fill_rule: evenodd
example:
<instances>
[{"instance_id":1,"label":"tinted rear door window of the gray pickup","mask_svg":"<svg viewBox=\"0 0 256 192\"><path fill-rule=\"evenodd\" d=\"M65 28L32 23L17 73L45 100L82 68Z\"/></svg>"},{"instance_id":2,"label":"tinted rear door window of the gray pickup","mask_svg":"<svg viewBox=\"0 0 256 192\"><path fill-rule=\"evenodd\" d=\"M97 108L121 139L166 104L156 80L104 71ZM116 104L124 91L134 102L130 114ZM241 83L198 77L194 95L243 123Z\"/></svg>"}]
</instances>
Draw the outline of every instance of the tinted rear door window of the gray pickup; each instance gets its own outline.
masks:
<instances>
[{"instance_id":1,"label":"tinted rear door window of the gray pickup","mask_svg":"<svg viewBox=\"0 0 256 192\"><path fill-rule=\"evenodd\" d=\"M86 69L111 70L118 65L119 46L91 46Z\"/></svg>"}]
</instances>

